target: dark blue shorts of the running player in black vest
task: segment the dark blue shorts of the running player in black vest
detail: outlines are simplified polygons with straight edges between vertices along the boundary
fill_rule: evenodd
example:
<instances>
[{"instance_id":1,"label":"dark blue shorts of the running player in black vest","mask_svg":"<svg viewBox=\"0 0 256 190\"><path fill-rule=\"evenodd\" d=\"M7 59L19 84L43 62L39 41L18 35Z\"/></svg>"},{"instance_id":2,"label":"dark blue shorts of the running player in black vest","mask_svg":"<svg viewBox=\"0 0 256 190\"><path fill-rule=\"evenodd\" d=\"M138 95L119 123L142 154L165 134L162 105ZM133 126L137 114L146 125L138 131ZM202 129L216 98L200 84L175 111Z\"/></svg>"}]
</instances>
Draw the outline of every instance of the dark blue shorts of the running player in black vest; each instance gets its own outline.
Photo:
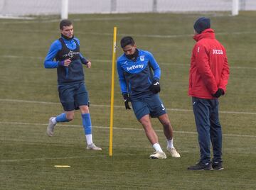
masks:
<instances>
[{"instance_id":1,"label":"dark blue shorts of the running player in black vest","mask_svg":"<svg viewBox=\"0 0 256 190\"><path fill-rule=\"evenodd\" d=\"M64 111L73 111L79 109L79 106L88 105L85 83L60 85L58 92Z\"/></svg>"}]
</instances>

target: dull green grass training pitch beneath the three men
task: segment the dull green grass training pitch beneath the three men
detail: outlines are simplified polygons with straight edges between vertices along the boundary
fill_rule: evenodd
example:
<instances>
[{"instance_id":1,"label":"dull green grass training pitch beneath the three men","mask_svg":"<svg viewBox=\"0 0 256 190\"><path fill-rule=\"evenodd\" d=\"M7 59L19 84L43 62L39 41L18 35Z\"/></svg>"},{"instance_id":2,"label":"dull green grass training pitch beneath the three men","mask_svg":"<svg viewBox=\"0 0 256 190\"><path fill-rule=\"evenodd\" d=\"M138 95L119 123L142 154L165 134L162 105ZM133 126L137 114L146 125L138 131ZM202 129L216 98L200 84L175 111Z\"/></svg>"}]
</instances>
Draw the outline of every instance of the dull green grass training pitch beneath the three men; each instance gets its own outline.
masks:
<instances>
[{"instance_id":1,"label":"dull green grass training pitch beneath the three men","mask_svg":"<svg viewBox=\"0 0 256 190\"><path fill-rule=\"evenodd\" d=\"M208 13L230 63L228 91L220 98L223 171L191 172L199 157L196 126L187 96L193 22L199 14L73 15L80 49L92 60L85 69L94 141L85 150L80 113L46 136L48 118L62 112L55 69L44 69L50 43L59 38L58 18L0 20L0 189L255 189L256 12ZM132 35L161 67L161 99L174 126L181 159L150 160L154 151L132 111L124 109L115 77L113 157L108 156L112 30ZM117 55L122 51L117 47ZM159 143L166 147L154 119ZM55 168L67 164L70 168Z\"/></svg>"}]
</instances>

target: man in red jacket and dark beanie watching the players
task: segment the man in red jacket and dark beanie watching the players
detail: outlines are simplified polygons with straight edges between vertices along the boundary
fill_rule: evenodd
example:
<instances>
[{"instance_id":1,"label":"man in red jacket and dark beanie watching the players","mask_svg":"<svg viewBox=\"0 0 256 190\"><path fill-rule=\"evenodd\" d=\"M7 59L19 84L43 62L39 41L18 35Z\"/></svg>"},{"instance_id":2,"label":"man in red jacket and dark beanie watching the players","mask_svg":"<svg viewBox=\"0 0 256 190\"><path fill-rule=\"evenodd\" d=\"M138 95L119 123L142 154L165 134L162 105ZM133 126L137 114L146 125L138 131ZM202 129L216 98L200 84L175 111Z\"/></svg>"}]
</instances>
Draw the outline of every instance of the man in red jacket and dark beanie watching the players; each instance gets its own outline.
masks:
<instances>
[{"instance_id":1,"label":"man in red jacket and dark beanie watching the players","mask_svg":"<svg viewBox=\"0 0 256 190\"><path fill-rule=\"evenodd\" d=\"M223 169L218 98L225 94L228 84L228 59L225 48L215 39L214 30L210 28L210 18L198 18L193 27L196 45L191 56L188 95L192 96L201 157L188 169ZM213 160L210 160L210 142Z\"/></svg>"}]
</instances>

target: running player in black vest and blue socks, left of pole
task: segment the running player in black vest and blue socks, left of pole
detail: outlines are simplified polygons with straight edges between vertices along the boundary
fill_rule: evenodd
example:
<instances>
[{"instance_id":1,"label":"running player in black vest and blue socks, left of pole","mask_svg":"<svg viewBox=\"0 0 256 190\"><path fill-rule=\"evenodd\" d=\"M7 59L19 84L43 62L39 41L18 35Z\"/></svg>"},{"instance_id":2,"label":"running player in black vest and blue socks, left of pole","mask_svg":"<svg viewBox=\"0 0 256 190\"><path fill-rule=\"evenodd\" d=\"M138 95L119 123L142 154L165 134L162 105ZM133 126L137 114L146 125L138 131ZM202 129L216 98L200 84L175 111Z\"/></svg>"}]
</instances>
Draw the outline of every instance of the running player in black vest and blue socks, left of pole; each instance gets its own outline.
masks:
<instances>
[{"instance_id":1,"label":"running player in black vest and blue socks, left of pole","mask_svg":"<svg viewBox=\"0 0 256 190\"><path fill-rule=\"evenodd\" d=\"M89 98L85 87L82 65L91 67L80 53L80 42L73 35L73 23L69 20L60 21L61 38L50 45L44 66L46 69L57 68L58 92L64 113L49 119L46 133L53 136L56 123L72 121L75 109L80 109L82 125L88 150L102 150L92 142L92 124L89 112Z\"/></svg>"}]
</instances>

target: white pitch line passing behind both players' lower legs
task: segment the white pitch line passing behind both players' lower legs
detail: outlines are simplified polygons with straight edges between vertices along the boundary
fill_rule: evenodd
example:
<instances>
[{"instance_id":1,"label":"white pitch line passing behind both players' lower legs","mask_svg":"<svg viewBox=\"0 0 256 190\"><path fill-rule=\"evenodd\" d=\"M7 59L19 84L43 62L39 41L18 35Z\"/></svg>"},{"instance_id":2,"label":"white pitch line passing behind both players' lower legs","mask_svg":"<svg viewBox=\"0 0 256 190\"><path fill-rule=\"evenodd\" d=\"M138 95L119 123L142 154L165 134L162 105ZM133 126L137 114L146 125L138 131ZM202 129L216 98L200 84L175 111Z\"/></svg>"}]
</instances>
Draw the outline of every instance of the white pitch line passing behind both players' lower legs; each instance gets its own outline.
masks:
<instances>
[{"instance_id":1,"label":"white pitch line passing behind both players' lower legs","mask_svg":"<svg viewBox=\"0 0 256 190\"><path fill-rule=\"evenodd\" d=\"M4 121L0 121L0 124L11 124L11 125L44 125L47 126L48 124L46 123L22 123L22 122L4 122ZM58 126L60 127L81 127L82 125L69 125L69 124L59 124ZM92 128L100 128L100 129L104 129L104 130L109 130L110 127L104 127L104 126L95 126L92 125ZM115 130L137 130L137 131L143 131L142 128L117 128L114 127L113 129ZM163 132L163 130L159 130L159 129L155 129L155 131L157 132ZM174 133L181 133L181 134L191 134L191 135L197 135L197 132L192 132L192 131L183 131L183 130L174 130ZM237 134L223 134L223 136L227 136L227 137L242 137L242 138L256 138L256 135L237 135Z\"/></svg>"}]
</instances>

